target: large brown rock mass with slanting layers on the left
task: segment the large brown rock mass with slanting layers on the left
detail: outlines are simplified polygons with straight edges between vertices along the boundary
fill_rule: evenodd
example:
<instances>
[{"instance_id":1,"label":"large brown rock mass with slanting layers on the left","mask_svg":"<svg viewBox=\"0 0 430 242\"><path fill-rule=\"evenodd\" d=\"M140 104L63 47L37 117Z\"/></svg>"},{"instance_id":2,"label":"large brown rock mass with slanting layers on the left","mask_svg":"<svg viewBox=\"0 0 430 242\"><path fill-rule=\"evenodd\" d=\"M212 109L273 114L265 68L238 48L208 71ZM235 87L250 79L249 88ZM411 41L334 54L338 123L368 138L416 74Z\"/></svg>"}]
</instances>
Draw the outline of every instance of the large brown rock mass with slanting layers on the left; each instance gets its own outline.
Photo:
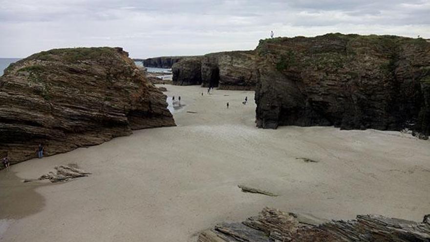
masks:
<instances>
[{"instance_id":1,"label":"large brown rock mass with slanting layers on the left","mask_svg":"<svg viewBox=\"0 0 430 242\"><path fill-rule=\"evenodd\" d=\"M12 163L96 145L132 130L174 126L166 96L122 48L53 49L0 77L0 155Z\"/></svg>"}]
</instances>

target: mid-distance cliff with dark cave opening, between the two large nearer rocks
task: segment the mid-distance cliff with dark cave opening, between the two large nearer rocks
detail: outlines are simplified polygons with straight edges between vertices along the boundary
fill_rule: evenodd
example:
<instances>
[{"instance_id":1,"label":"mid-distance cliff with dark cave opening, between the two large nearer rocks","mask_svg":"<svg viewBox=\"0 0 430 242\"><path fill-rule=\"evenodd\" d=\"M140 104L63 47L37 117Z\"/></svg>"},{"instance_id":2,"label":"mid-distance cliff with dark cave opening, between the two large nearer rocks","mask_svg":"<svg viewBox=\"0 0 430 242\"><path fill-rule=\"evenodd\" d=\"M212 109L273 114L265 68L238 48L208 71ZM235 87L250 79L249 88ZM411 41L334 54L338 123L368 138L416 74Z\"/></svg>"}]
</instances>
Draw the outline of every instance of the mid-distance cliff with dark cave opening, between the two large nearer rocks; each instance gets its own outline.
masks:
<instances>
[{"instance_id":1,"label":"mid-distance cliff with dark cave opening, between the two large nearer rocks","mask_svg":"<svg viewBox=\"0 0 430 242\"><path fill-rule=\"evenodd\" d=\"M220 89L254 89L258 73L254 51L211 53L186 58L172 67L176 85L199 85Z\"/></svg>"}]
</instances>

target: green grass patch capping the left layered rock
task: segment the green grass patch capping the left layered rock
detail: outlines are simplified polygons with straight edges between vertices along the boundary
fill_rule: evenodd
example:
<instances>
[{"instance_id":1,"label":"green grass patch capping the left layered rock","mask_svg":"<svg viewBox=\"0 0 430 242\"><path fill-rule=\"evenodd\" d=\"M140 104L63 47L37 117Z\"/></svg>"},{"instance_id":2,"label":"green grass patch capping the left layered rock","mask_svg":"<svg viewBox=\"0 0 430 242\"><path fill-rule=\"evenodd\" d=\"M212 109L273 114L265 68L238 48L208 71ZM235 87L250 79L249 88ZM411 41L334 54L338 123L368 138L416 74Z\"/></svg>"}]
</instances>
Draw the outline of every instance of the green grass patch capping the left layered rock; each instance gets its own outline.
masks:
<instances>
[{"instance_id":1,"label":"green grass patch capping the left layered rock","mask_svg":"<svg viewBox=\"0 0 430 242\"><path fill-rule=\"evenodd\" d=\"M33 54L26 58L27 60L42 61L66 61L77 62L83 60L97 60L113 56L116 50L110 47L91 47L91 48L65 48L51 49Z\"/></svg>"}]
</instances>

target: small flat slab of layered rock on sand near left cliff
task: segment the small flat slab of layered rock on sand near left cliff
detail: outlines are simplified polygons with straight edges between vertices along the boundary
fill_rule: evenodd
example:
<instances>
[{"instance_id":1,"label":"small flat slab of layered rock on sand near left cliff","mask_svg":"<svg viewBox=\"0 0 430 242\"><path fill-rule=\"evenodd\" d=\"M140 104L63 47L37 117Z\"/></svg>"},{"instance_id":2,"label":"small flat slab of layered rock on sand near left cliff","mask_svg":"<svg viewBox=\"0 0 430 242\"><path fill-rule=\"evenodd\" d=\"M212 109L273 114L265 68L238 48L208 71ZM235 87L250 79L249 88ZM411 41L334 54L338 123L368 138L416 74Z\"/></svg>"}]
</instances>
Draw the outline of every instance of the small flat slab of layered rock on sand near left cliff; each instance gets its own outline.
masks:
<instances>
[{"instance_id":1,"label":"small flat slab of layered rock on sand near left cliff","mask_svg":"<svg viewBox=\"0 0 430 242\"><path fill-rule=\"evenodd\" d=\"M91 175L91 173L78 169L75 165L56 166L55 171L51 171L39 177L39 180L50 180L51 182L59 182L88 175Z\"/></svg>"}]
</instances>

